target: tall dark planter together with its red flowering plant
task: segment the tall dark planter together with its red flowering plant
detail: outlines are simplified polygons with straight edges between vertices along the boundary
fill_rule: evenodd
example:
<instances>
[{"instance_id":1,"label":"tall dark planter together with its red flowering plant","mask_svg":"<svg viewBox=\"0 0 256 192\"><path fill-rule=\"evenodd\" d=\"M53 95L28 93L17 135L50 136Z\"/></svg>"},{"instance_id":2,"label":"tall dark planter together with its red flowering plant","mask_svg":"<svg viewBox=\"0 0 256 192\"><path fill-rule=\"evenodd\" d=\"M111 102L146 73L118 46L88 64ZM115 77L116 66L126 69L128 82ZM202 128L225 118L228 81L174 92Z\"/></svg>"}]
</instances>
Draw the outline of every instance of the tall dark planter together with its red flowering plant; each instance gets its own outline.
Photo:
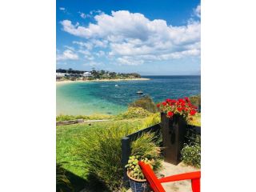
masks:
<instances>
[{"instance_id":1,"label":"tall dark planter together with its red flowering plant","mask_svg":"<svg viewBox=\"0 0 256 192\"><path fill-rule=\"evenodd\" d=\"M177 165L186 134L186 122L197 113L189 98L170 99L157 104L161 112L163 156L166 162Z\"/></svg>"}]
</instances>

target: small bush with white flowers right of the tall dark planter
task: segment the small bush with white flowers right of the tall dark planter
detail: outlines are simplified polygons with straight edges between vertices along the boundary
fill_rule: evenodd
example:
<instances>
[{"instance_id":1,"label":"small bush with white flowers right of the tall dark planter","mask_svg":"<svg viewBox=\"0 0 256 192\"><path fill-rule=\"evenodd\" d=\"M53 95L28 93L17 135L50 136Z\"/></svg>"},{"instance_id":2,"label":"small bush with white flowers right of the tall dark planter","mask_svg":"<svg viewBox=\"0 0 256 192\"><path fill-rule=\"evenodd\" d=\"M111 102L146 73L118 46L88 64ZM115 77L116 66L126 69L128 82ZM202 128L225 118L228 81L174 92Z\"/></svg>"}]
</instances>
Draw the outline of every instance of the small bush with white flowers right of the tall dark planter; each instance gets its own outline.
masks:
<instances>
[{"instance_id":1,"label":"small bush with white flowers right of the tall dark planter","mask_svg":"<svg viewBox=\"0 0 256 192\"><path fill-rule=\"evenodd\" d=\"M201 167L201 138L197 137L194 143L185 145L181 151L182 161L188 166Z\"/></svg>"}]
</instances>

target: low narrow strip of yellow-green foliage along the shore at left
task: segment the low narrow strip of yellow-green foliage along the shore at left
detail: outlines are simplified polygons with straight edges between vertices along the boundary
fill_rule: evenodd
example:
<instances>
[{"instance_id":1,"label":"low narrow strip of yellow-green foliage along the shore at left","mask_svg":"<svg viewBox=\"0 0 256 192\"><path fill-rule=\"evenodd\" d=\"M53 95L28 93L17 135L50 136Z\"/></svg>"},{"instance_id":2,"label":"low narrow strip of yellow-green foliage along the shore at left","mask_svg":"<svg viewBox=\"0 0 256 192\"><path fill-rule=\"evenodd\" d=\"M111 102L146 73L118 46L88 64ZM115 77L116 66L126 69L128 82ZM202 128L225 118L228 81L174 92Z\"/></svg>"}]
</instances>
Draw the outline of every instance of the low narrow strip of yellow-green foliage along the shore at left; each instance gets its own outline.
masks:
<instances>
[{"instance_id":1,"label":"low narrow strip of yellow-green foliage along the shore at left","mask_svg":"<svg viewBox=\"0 0 256 192\"><path fill-rule=\"evenodd\" d=\"M56 117L57 122L62 121L70 121L76 119L84 119L84 120L96 120L96 119L110 119L112 118L111 115L108 114L92 114L92 115L66 115L60 114Z\"/></svg>"}]
</instances>

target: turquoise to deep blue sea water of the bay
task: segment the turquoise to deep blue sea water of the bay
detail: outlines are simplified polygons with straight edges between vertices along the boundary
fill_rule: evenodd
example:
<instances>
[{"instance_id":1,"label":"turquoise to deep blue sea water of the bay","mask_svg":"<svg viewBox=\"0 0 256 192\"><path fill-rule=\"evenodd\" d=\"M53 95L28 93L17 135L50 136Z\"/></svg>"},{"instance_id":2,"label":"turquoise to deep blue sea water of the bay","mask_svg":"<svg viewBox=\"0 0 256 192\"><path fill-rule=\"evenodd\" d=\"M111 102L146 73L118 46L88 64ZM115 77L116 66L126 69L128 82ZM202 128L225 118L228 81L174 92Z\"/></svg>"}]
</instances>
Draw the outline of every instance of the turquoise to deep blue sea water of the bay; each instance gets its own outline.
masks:
<instances>
[{"instance_id":1,"label":"turquoise to deep blue sea water of the bay","mask_svg":"<svg viewBox=\"0 0 256 192\"><path fill-rule=\"evenodd\" d=\"M74 82L56 87L57 114L118 114L142 96L154 102L200 94L201 76L143 76L148 81ZM118 85L118 86L115 86Z\"/></svg>"}]
</instances>

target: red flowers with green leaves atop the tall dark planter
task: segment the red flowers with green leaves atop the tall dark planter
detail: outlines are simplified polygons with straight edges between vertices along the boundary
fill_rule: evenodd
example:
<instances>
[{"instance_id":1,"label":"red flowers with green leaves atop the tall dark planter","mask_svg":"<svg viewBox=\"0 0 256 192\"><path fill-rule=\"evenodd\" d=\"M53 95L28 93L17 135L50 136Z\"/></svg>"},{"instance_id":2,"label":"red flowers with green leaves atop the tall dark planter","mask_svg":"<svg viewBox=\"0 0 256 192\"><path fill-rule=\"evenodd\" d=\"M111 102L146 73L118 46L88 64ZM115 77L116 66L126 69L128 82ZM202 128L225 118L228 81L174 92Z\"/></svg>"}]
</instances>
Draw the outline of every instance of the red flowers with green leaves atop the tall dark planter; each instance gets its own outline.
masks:
<instances>
[{"instance_id":1,"label":"red flowers with green leaves atop the tall dark planter","mask_svg":"<svg viewBox=\"0 0 256 192\"><path fill-rule=\"evenodd\" d=\"M178 100L167 98L165 102L157 104L159 110L165 113L167 118L171 118L174 114L180 114L184 118L194 116L197 107L192 105L189 98L179 98Z\"/></svg>"}]
</instances>

